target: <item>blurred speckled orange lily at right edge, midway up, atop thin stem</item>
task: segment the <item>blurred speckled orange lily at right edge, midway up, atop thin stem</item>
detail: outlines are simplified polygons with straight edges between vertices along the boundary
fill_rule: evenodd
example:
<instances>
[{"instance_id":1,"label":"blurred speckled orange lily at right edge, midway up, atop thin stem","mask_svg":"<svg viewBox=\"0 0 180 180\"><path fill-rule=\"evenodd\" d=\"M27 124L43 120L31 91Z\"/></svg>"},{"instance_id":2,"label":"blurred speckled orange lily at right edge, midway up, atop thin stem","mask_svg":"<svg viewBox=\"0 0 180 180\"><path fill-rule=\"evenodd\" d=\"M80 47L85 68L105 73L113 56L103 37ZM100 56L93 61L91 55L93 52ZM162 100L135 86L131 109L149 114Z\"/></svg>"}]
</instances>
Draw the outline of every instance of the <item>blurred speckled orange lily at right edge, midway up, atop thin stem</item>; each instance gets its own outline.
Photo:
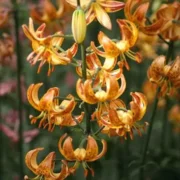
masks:
<instances>
[{"instance_id":1,"label":"blurred speckled orange lily at right edge, midway up, atop thin stem","mask_svg":"<svg viewBox=\"0 0 180 180\"><path fill-rule=\"evenodd\" d=\"M161 87L160 96L172 94L172 88L180 87L180 57L165 65L165 56L157 57L148 69L148 78Z\"/></svg>"}]
</instances>

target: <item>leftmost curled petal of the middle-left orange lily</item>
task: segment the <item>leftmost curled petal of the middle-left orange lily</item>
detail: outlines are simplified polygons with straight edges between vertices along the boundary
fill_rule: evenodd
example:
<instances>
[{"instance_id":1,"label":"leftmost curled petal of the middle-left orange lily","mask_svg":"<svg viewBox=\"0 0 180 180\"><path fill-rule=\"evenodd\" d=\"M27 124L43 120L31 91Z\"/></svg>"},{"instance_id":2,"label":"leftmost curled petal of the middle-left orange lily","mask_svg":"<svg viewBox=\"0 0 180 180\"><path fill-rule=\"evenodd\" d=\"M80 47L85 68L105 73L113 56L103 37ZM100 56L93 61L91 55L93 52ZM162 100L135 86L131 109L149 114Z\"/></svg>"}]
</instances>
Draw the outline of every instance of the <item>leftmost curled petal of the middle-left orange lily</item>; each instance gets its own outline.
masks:
<instances>
[{"instance_id":1,"label":"leftmost curled petal of the middle-left orange lily","mask_svg":"<svg viewBox=\"0 0 180 180\"><path fill-rule=\"evenodd\" d=\"M39 107L39 98L38 92L39 88L43 85L43 83L31 84L27 90L27 99L29 103L38 111L41 110Z\"/></svg>"}]
</instances>

